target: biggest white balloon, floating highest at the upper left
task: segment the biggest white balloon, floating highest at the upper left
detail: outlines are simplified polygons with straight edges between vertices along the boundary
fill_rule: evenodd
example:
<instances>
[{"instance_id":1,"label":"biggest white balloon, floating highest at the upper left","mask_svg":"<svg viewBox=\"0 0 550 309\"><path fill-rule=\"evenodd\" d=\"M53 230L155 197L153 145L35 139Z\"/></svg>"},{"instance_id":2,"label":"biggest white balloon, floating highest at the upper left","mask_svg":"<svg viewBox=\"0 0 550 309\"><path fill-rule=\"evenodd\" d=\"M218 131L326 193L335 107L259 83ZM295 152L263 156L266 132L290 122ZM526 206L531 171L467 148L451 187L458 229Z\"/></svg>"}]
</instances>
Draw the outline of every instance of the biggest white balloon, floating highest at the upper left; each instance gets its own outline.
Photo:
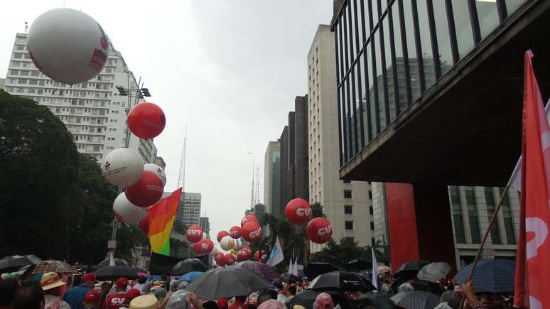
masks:
<instances>
[{"instance_id":1,"label":"biggest white balloon, floating highest at the upper left","mask_svg":"<svg viewBox=\"0 0 550 309\"><path fill-rule=\"evenodd\" d=\"M109 55L109 42L94 18L74 9L53 9L28 30L28 53L46 76L75 85L96 77Z\"/></svg>"}]
</instances>

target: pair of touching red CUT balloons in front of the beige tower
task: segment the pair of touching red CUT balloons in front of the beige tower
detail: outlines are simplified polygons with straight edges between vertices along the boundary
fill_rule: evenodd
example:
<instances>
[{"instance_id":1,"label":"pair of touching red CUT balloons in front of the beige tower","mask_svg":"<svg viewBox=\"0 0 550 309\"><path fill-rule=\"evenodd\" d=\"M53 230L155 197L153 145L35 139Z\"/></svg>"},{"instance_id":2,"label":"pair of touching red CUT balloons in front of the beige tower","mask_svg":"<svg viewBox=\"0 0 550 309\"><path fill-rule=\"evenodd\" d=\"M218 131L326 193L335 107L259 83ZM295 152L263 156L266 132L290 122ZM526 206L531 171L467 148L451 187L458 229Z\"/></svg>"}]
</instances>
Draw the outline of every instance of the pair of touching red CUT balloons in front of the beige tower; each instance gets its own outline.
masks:
<instances>
[{"instance_id":1,"label":"pair of touching red CUT balloons in front of the beige tower","mask_svg":"<svg viewBox=\"0 0 550 309\"><path fill-rule=\"evenodd\" d=\"M293 224L304 224L308 222L306 234L308 239L316 244L325 244L333 237L333 227L326 218L311 218L311 205L308 201L295 198L286 204L284 210L286 219Z\"/></svg>"}]
</instances>

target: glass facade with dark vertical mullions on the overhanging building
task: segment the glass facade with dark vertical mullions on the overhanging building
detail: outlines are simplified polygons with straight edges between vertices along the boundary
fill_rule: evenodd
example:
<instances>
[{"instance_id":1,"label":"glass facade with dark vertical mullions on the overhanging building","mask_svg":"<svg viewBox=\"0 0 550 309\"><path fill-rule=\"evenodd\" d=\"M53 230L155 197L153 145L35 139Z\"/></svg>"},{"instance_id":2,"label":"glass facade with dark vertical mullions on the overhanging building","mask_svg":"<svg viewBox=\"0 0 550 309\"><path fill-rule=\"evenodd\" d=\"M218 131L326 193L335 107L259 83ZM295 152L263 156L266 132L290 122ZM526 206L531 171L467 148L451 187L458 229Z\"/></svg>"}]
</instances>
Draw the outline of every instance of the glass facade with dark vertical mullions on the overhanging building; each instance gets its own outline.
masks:
<instances>
[{"instance_id":1,"label":"glass facade with dark vertical mullions on the overhanging building","mask_svg":"<svg viewBox=\"0 0 550 309\"><path fill-rule=\"evenodd\" d=\"M525 0L344 0L335 33L340 166Z\"/></svg>"}]
</instances>

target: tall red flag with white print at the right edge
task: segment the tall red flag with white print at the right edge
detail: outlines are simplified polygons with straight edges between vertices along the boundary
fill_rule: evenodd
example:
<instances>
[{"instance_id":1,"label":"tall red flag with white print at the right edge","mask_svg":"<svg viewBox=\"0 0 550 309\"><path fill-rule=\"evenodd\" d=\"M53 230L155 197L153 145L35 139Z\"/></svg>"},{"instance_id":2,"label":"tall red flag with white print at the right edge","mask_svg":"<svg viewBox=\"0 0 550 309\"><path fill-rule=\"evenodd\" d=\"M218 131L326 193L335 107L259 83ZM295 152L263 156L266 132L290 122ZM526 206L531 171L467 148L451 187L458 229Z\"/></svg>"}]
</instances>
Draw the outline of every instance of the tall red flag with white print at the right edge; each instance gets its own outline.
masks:
<instances>
[{"instance_id":1,"label":"tall red flag with white print at the right edge","mask_svg":"<svg viewBox=\"0 0 550 309\"><path fill-rule=\"evenodd\" d=\"M525 52L523 99L522 203L516 260L514 306L550 308L550 126L532 67ZM524 216L522 218L522 216Z\"/></svg>"}]
</instances>

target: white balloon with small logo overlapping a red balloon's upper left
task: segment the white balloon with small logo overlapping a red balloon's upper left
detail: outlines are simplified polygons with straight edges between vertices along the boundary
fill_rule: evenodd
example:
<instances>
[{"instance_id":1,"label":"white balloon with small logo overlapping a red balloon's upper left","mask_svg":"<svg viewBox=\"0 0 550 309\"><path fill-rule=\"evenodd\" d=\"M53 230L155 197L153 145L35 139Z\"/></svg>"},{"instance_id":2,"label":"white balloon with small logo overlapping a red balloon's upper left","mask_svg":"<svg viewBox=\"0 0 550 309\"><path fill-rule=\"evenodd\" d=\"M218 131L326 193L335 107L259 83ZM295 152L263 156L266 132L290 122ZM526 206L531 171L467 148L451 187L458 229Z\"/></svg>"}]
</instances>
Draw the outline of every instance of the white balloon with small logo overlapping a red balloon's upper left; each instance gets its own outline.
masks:
<instances>
[{"instance_id":1,"label":"white balloon with small logo overlapping a red balloon's upper left","mask_svg":"<svg viewBox=\"0 0 550 309\"><path fill-rule=\"evenodd\" d=\"M144 161L130 148L114 149L101 163L101 173L109 183L119 187L136 183L144 172Z\"/></svg>"}]
</instances>

